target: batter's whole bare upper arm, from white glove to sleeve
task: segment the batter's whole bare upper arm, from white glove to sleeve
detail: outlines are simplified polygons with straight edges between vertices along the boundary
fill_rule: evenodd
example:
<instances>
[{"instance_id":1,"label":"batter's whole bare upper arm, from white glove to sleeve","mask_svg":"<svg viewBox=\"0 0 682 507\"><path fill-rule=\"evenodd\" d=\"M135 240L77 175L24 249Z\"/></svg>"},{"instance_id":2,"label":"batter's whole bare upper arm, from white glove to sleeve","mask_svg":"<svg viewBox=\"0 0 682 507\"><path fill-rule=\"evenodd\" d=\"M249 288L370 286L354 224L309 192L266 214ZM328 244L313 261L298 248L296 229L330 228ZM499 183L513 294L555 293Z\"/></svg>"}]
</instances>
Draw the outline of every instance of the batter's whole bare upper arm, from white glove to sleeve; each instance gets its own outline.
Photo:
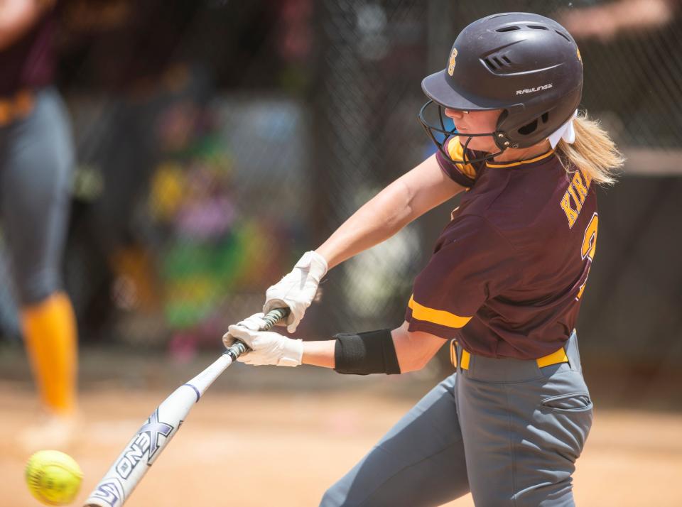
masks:
<instances>
[{"instance_id":1,"label":"batter's whole bare upper arm, from white glove to sleeve","mask_svg":"<svg viewBox=\"0 0 682 507\"><path fill-rule=\"evenodd\" d=\"M462 192L431 156L357 210L316 251L329 268L389 239L430 209Z\"/></svg>"}]
</instances>

